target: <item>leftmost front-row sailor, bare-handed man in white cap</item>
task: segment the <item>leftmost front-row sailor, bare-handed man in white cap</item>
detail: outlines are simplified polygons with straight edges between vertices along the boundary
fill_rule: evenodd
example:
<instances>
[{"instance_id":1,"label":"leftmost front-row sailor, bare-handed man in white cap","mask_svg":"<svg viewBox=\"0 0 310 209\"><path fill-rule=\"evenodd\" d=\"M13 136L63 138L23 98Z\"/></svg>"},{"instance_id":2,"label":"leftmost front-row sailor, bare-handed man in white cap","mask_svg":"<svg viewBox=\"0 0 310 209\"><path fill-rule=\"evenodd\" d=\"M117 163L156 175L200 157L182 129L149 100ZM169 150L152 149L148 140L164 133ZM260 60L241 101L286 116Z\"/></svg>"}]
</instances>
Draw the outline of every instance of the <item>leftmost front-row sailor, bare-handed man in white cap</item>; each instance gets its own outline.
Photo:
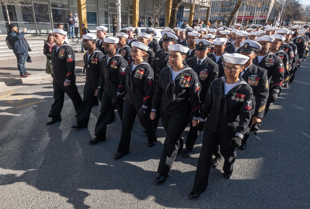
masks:
<instances>
[{"instance_id":1,"label":"leftmost front-row sailor, bare-handed man in white cap","mask_svg":"<svg viewBox=\"0 0 310 209\"><path fill-rule=\"evenodd\" d=\"M64 106L64 93L66 93L73 102L75 112L82 106L82 98L75 84L75 56L73 49L64 41L67 32L61 29L53 29L54 42L51 51L51 63L54 72L53 78L53 98L54 103L51 106L48 117L51 121L47 125L61 121L61 110Z\"/></svg>"}]
</instances>

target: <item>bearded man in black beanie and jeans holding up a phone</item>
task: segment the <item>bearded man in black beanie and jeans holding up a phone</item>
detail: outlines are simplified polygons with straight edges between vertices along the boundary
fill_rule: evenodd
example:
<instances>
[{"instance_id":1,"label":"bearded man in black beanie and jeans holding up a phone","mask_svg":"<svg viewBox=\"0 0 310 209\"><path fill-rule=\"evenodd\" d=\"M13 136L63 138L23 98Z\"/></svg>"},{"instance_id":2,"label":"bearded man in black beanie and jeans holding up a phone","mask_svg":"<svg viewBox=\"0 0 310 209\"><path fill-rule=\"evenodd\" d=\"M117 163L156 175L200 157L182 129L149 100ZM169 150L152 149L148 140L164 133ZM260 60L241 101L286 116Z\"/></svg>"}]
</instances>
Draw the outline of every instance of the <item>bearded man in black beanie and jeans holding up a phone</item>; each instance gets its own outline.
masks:
<instances>
[{"instance_id":1,"label":"bearded man in black beanie and jeans holding up a phone","mask_svg":"<svg viewBox=\"0 0 310 209\"><path fill-rule=\"evenodd\" d=\"M27 28L24 28L22 32L18 32L17 25L14 23L9 24L9 31L7 36L12 46L13 52L17 58L17 67L20 71L21 78L27 78L32 75L26 71L26 60L28 52L31 51L30 46L25 39L24 35L27 33Z\"/></svg>"}]
</instances>

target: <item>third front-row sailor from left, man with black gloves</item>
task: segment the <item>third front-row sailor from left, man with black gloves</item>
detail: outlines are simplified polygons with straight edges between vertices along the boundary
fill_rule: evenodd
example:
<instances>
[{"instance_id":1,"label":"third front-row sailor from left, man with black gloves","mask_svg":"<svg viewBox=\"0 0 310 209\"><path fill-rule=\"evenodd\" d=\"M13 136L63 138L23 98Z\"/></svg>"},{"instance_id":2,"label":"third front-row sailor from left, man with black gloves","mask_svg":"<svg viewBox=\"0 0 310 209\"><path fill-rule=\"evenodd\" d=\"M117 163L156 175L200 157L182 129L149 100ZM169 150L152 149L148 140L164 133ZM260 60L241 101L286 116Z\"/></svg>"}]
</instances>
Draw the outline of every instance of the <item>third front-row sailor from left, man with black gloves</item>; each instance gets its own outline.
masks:
<instances>
[{"instance_id":1,"label":"third front-row sailor from left, man with black gloves","mask_svg":"<svg viewBox=\"0 0 310 209\"><path fill-rule=\"evenodd\" d=\"M98 85L98 94L102 95L100 115L95 126L95 138L89 140L89 143L96 144L106 140L106 130L116 107L118 115L122 122L123 115L123 92L125 89L125 69L127 61L116 52L119 39L113 36L104 38L104 49L106 55L101 61L100 80ZM115 116L114 116L115 117Z\"/></svg>"}]
</instances>

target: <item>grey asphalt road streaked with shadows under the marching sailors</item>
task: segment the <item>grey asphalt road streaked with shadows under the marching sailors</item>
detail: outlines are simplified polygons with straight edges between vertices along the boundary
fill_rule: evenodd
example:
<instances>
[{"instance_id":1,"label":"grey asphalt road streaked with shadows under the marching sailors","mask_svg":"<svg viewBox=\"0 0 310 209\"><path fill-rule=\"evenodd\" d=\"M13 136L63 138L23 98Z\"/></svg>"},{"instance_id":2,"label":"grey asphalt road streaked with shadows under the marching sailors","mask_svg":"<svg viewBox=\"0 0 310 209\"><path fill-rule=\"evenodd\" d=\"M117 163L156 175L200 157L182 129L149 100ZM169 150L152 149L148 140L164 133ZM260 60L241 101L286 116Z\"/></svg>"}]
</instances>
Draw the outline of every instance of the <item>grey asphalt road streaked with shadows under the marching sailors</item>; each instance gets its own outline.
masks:
<instances>
[{"instance_id":1,"label":"grey asphalt road streaked with shadows under the marching sailors","mask_svg":"<svg viewBox=\"0 0 310 209\"><path fill-rule=\"evenodd\" d=\"M231 179L223 177L223 161L211 168L207 190L192 201L202 133L193 156L176 157L170 176L155 185L165 139L147 147L136 118L130 154L114 160L121 125L107 128L107 141L89 145L100 106L92 110L88 129L73 130L73 104L65 97L62 121L45 123L53 102L50 80L5 87L0 91L1 208L310 208L310 58L294 83L264 117L261 131L250 135L245 151L237 149ZM82 96L85 75L77 75ZM189 127L184 131L186 137Z\"/></svg>"}]
</instances>

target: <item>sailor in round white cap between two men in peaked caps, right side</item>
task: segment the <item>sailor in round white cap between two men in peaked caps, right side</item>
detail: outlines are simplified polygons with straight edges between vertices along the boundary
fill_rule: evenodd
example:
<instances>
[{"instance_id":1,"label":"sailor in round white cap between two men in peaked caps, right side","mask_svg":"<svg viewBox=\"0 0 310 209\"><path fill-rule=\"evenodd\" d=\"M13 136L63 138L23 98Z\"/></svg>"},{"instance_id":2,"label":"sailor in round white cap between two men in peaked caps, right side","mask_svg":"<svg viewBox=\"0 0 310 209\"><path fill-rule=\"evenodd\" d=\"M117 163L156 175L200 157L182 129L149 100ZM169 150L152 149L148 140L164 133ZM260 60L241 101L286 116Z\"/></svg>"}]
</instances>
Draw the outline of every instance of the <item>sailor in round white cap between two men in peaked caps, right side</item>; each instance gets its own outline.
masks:
<instances>
[{"instance_id":1,"label":"sailor in round white cap between two men in peaked caps, right side","mask_svg":"<svg viewBox=\"0 0 310 209\"><path fill-rule=\"evenodd\" d=\"M213 62L216 62L216 64L219 65L219 76L223 77L225 75L224 73L224 66L225 66L225 61L224 61L224 54L227 54L225 51L226 48L226 38L217 38L213 40L214 44L214 52L211 54L208 54L208 58L210 58Z\"/></svg>"}]
</instances>

